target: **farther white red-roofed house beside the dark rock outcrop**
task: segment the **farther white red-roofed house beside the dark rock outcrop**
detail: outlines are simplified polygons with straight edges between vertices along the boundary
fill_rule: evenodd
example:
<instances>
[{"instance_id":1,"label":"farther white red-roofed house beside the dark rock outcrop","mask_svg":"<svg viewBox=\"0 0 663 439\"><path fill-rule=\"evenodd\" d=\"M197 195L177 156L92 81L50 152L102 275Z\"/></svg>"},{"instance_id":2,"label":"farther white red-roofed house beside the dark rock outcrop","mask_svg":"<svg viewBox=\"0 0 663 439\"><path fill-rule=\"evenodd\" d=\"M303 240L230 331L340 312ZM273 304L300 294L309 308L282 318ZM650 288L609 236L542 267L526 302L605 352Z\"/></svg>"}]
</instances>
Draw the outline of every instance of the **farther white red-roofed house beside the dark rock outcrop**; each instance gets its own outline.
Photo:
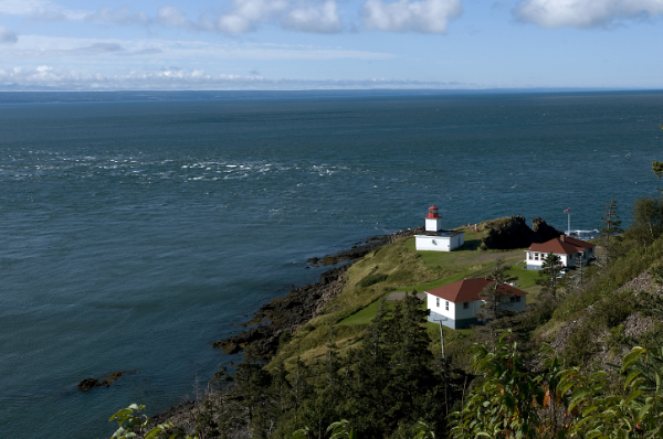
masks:
<instances>
[{"instance_id":1,"label":"farther white red-roofed house beside the dark rock outcrop","mask_svg":"<svg viewBox=\"0 0 663 439\"><path fill-rule=\"evenodd\" d=\"M594 245L570 236L561 235L544 244L533 244L525 250L528 270L540 270L546 255L552 253L561 259L565 267L573 267L580 260L587 265L594 257Z\"/></svg>"}]
</instances>

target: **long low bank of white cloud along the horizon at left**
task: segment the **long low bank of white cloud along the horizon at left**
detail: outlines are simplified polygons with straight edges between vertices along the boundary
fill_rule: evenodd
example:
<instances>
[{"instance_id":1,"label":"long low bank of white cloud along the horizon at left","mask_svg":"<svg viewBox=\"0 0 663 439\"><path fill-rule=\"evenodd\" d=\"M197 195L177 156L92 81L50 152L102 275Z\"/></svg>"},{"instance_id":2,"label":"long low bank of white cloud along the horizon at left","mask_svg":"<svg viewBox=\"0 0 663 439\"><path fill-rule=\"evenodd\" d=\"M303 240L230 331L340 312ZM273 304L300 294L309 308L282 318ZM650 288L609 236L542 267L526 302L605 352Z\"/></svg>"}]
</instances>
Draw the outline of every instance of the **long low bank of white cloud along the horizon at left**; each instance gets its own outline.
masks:
<instances>
[{"instance_id":1,"label":"long low bank of white cloud along the horizon at left","mask_svg":"<svg viewBox=\"0 0 663 439\"><path fill-rule=\"evenodd\" d=\"M36 68L0 68L0 90L203 90L203 89L356 89L356 88L461 88L467 84L436 81L269 79L261 76L210 75L202 69L168 67L149 73L102 75Z\"/></svg>"}]
</instances>

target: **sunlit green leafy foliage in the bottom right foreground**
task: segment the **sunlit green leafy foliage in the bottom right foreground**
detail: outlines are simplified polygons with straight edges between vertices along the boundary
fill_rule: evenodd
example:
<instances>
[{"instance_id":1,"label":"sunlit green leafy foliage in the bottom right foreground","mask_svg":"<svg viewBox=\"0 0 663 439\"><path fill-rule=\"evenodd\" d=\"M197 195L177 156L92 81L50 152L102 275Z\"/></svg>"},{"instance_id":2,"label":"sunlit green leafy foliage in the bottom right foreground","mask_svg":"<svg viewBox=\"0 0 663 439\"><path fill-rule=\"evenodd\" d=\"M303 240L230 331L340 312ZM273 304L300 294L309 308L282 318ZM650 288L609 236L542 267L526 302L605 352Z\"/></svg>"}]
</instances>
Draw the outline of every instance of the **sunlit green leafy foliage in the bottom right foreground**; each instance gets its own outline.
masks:
<instances>
[{"instance_id":1,"label":"sunlit green leafy foliage in the bottom right foreground","mask_svg":"<svg viewBox=\"0 0 663 439\"><path fill-rule=\"evenodd\" d=\"M530 372L509 339L507 331L494 352L473 346L473 367L484 383L452 415L452 437L661 437L663 350L633 347L617 376L564 368L550 351L541 355L541 370Z\"/></svg>"}]
</instances>

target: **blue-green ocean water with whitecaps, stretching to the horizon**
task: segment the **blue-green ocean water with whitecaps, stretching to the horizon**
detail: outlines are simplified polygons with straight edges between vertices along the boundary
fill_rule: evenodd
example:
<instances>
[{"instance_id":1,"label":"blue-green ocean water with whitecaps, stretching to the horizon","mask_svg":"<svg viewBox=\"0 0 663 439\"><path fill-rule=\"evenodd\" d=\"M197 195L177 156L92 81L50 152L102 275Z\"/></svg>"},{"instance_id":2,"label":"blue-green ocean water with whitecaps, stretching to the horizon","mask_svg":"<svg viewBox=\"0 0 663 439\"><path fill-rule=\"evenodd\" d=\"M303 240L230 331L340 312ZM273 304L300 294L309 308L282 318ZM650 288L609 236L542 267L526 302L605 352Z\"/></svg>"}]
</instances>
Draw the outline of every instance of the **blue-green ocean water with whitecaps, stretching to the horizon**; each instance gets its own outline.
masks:
<instances>
[{"instance_id":1,"label":"blue-green ocean water with whitecaps, stretching to the horizon","mask_svg":"<svg viewBox=\"0 0 663 439\"><path fill-rule=\"evenodd\" d=\"M0 95L2 437L110 436L120 407L194 397L232 360L211 342L315 280L307 258L431 203L448 227L570 207L591 231L614 197L628 224L663 159L663 93L35 96Z\"/></svg>"}]
</instances>

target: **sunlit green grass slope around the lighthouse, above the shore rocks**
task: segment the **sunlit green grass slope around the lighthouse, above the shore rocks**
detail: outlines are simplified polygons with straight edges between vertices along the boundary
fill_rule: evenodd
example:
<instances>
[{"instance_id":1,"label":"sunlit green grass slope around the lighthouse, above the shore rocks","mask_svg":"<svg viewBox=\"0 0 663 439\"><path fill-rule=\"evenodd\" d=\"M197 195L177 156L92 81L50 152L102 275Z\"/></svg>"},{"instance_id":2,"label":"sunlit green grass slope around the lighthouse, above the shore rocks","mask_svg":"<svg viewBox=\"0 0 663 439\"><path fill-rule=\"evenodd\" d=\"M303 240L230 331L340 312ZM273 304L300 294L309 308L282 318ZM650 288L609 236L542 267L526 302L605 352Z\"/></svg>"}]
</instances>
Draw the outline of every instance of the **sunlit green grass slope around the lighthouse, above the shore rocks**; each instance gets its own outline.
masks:
<instances>
[{"instance_id":1,"label":"sunlit green grass slope around the lighthouse, above the shore rocks","mask_svg":"<svg viewBox=\"0 0 663 439\"><path fill-rule=\"evenodd\" d=\"M464 229L465 245L455 251L415 251L414 238L400 239L354 264L347 272L348 281L344 291L330 301L323 314L306 323L293 334L292 341L283 346L267 367L285 363L290 368L297 356L302 361L315 361L322 357L332 341L343 352L358 343L366 324L372 320L378 310L380 298L396 290L417 289L423 291L441 285L446 285L463 277L485 276L490 272L495 259L503 257L509 264L524 259L523 249L509 251L478 250L483 233L472 233ZM536 272L514 268L514 274L520 278L517 282L522 288L536 289L534 285ZM367 276L375 274L388 275L387 280L368 288L357 283ZM391 304L387 304L391 306ZM429 323L432 349L440 346L440 329ZM332 332L332 334L330 334ZM445 329L448 343L454 343L467 335L467 331Z\"/></svg>"}]
</instances>

